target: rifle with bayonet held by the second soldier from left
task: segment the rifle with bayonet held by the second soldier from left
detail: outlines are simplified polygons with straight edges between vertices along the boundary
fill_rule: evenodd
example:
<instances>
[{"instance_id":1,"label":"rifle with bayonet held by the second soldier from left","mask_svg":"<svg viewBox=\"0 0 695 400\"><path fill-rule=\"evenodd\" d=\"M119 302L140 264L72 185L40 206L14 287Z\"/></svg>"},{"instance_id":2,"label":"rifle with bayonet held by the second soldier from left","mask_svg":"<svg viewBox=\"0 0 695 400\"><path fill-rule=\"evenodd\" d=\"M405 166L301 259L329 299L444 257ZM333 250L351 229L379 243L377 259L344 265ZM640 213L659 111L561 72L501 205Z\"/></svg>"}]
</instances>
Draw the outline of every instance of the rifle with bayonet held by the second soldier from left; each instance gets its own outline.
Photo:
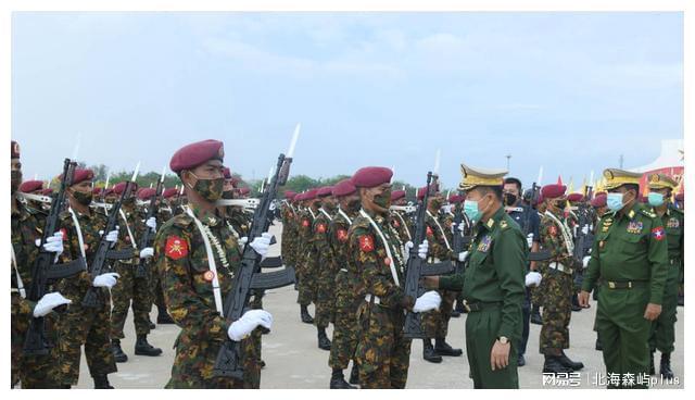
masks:
<instances>
[{"instance_id":1,"label":"rifle with bayonet held by the second soldier from left","mask_svg":"<svg viewBox=\"0 0 695 400\"><path fill-rule=\"evenodd\" d=\"M130 180L126 183L126 187L123 190L123 193L121 193L121 198L118 198L118 200L116 200L116 202L113 203L111 208L111 213L106 218L106 226L104 226L104 232L101 235L101 239L99 240L99 246L97 247L97 251L94 252L94 258L90 265L89 273L91 275L91 282L93 282L97 276L106 273L108 270L111 268L111 266L106 264L106 260L128 260L128 259L132 259L134 257L132 248L125 249L125 250L111 250L114 243L108 241L106 236L109 235L110 232L116 228L116 223L118 222L118 215L121 212L121 204L123 204L123 201L125 199L130 197L132 192L132 188L135 186L135 179L138 176L139 170L140 170L140 163L138 163L138 165L136 166L135 173L132 174L132 178L130 178ZM99 289L100 288L97 288L93 286L90 286L89 289L87 289L87 293L83 299L84 307L87 307L87 308L99 307L101 301L103 301L103 299L101 299L99 295L100 293Z\"/></svg>"}]
</instances>

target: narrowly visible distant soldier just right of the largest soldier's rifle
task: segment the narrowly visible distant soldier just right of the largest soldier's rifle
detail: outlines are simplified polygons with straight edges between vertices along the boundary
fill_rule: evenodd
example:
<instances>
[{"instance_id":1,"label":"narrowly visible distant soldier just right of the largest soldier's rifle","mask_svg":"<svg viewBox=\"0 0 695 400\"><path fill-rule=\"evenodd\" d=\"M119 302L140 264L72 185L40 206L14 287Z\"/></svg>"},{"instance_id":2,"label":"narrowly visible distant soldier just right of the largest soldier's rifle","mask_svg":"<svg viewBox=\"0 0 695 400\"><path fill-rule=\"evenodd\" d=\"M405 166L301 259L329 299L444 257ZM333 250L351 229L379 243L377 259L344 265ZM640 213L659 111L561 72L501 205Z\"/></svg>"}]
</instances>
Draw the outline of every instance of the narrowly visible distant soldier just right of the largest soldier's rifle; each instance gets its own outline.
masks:
<instances>
[{"instance_id":1,"label":"narrowly visible distant soldier just right of the largest soldier's rifle","mask_svg":"<svg viewBox=\"0 0 695 400\"><path fill-rule=\"evenodd\" d=\"M301 193L305 209L298 213L298 257L296 273L299 274L299 293L296 302L300 304L300 316L305 324L313 324L314 318L308 313L308 304L316 301L316 254L314 254L311 239L312 226L318 213L316 189Z\"/></svg>"}]
</instances>

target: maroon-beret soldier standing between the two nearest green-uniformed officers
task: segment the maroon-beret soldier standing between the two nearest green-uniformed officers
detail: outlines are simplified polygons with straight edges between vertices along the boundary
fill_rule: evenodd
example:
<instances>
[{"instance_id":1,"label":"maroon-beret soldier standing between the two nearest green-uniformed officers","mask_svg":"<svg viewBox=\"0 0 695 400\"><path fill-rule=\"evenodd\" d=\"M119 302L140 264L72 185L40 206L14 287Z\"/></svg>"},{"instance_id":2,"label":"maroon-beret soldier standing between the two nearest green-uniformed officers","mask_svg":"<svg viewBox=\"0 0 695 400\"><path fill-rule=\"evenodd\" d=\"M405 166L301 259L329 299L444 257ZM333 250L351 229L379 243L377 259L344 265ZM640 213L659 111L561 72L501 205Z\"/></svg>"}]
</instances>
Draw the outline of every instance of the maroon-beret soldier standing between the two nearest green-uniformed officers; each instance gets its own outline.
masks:
<instances>
[{"instance_id":1,"label":"maroon-beret soldier standing between the two nearest green-uniformed officers","mask_svg":"<svg viewBox=\"0 0 695 400\"><path fill-rule=\"evenodd\" d=\"M543 250L551 259L541 262L543 271L543 328L541 328L540 352L545 357L543 373L570 373L584 367L571 361L565 349L569 349L569 322L572 313L570 298L573 291L572 273L580 266L572 257L573 224L563 213L566 204L561 185L547 185L541 190L547 210L539 228Z\"/></svg>"}]
</instances>

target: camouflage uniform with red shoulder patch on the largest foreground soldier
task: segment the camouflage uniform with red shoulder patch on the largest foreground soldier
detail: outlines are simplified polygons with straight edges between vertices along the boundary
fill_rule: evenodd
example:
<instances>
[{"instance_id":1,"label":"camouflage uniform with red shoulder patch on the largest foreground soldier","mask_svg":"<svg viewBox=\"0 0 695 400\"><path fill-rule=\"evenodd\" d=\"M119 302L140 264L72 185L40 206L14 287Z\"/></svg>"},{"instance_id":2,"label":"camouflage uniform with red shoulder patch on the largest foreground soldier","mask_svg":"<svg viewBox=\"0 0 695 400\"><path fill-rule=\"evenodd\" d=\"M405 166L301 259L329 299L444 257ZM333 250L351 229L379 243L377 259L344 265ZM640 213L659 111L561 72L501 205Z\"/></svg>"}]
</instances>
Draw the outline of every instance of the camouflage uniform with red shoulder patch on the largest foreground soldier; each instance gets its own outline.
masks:
<instances>
[{"instance_id":1,"label":"camouflage uniform with red shoulder patch on the largest foreground soldier","mask_svg":"<svg viewBox=\"0 0 695 400\"><path fill-rule=\"evenodd\" d=\"M239 243L223 224L223 218L201 215L200 211L193 210L215 238L211 239L211 245L224 302L231 291L231 274L240 265ZM215 240L224 249L226 260L220 260ZM213 273L208 268L203 238L190 215L177 215L162 226L155 238L154 260L162 277L167 310L181 328L174 343L176 357L166 388L258 388L261 367L251 337L241 341L243 379L213 376L215 359L228 338L228 325L215 308Z\"/></svg>"}]
</instances>

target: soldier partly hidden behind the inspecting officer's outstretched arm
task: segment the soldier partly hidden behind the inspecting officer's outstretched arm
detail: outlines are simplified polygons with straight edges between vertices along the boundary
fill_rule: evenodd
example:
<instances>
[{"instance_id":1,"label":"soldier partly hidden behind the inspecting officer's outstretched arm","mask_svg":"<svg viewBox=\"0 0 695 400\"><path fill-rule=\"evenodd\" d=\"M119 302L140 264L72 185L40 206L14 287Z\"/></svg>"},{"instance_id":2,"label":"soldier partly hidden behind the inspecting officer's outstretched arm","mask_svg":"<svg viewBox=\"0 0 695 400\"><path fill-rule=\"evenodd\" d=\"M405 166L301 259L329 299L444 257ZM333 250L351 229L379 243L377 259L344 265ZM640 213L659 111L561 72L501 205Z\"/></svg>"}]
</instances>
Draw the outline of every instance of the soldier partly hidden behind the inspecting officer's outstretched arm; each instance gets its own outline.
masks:
<instances>
[{"instance_id":1,"label":"soldier partly hidden behind the inspecting officer's outstretched arm","mask_svg":"<svg viewBox=\"0 0 695 400\"><path fill-rule=\"evenodd\" d=\"M422 201L426 191L426 187L418 190L417 197L419 201ZM442 208L443 200L444 198L439 191L439 185L431 185L427 216L425 217L425 232L431 249L429 262L448 261L454 258L454 252L451 248L452 237L446 237L447 232L439 221L439 210ZM421 318L422 333L426 336L422 339L422 359L432 363L442 362L442 355L460 357L464 353L462 349L454 349L446 342L448 321L451 320L457 292L439 290L439 295L442 298L442 304L439 310L424 313ZM432 346L432 338L435 341L434 346Z\"/></svg>"}]
</instances>

